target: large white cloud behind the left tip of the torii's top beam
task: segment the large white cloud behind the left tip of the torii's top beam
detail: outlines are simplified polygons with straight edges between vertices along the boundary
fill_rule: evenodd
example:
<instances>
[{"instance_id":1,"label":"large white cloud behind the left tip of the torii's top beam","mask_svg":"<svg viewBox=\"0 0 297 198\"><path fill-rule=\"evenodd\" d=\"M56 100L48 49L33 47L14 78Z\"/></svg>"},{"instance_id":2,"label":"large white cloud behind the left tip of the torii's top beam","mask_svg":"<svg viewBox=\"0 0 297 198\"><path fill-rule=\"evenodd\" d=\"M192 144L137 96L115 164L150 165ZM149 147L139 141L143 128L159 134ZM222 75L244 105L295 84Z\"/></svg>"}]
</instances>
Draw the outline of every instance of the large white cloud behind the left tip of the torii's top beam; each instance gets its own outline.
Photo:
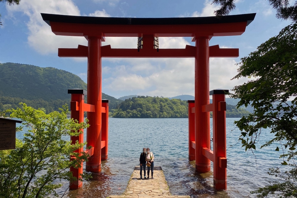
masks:
<instances>
[{"instance_id":1,"label":"large white cloud behind the left tip of the torii's top beam","mask_svg":"<svg viewBox=\"0 0 297 198\"><path fill-rule=\"evenodd\" d=\"M56 36L41 18L40 13L80 15L78 7L71 0L22 0L20 5L7 6L6 9L11 17L14 12L23 12L29 17L28 44L40 54L57 53L59 47L71 48L87 43L84 37Z\"/></svg>"}]
</instances>

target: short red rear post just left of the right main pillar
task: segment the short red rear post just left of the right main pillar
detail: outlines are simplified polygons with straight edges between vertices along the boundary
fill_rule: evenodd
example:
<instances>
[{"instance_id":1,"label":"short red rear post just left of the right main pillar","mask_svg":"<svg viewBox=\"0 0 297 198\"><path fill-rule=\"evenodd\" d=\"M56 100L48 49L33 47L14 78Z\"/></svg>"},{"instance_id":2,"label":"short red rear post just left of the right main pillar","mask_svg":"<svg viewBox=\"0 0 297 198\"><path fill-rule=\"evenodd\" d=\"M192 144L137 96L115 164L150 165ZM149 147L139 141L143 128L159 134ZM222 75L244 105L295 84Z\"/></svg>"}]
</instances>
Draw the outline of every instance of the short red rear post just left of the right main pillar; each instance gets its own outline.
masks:
<instances>
[{"instance_id":1,"label":"short red rear post just left of the right main pillar","mask_svg":"<svg viewBox=\"0 0 297 198\"><path fill-rule=\"evenodd\" d=\"M189 161L195 160L195 148L192 142L195 142L195 100L188 100L188 117L189 117Z\"/></svg>"}]
</instances>

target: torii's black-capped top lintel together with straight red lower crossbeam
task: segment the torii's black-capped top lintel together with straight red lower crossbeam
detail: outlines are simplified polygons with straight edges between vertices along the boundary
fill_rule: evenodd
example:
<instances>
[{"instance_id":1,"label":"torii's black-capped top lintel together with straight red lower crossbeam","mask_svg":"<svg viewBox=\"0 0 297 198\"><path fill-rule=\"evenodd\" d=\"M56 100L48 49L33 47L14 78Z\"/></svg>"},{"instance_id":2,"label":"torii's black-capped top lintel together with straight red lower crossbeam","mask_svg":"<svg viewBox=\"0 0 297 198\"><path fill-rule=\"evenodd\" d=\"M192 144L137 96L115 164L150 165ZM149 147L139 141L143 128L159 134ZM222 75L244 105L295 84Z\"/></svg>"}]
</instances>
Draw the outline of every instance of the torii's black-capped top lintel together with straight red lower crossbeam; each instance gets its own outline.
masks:
<instances>
[{"instance_id":1,"label":"torii's black-capped top lintel together with straight red lower crossbeam","mask_svg":"<svg viewBox=\"0 0 297 198\"><path fill-rule=\"evenodd\" d=\"M241 35L255 18L255 13L217 17L187 18L116 18L54 15L42 13L42 19L54 34L88 37L143 37L143 49L114 49L102 46L102 57L186 58L195 57L195 47L185 49L153 49L154 37L196 37ZM87 57L87 46L59 49L60 57ZM238 49L209 47L210 57L238 57Z\"/></svg>"}]
</instances>

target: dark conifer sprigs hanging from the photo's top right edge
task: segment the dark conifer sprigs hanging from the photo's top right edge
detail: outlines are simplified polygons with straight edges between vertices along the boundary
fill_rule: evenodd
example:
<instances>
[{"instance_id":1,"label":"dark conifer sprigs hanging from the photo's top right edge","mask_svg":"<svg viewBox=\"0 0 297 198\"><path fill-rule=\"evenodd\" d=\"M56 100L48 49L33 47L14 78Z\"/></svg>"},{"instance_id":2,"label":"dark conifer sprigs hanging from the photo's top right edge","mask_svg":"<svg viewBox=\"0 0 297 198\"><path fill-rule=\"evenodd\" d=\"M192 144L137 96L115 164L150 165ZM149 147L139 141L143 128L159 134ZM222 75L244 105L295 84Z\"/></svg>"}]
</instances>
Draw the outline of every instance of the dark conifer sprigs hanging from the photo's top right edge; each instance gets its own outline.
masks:
<instances>
[{"instance_id":1,"label":"dark conifer sprigs hanging from the photo's top right edge","mask_svg":"<svg viewBox=\"0 0 297 198\"><path fill-rule=\"evenodd\" d=\"M221 7L214 11L216 16L228 15L235 9L236 0L213 0L213 4L219 4ZM277 11L276 17L284 20L297 21L297 1L294 4L290 0L268 0L269 5Z\"/></svg>"}]
</instances>

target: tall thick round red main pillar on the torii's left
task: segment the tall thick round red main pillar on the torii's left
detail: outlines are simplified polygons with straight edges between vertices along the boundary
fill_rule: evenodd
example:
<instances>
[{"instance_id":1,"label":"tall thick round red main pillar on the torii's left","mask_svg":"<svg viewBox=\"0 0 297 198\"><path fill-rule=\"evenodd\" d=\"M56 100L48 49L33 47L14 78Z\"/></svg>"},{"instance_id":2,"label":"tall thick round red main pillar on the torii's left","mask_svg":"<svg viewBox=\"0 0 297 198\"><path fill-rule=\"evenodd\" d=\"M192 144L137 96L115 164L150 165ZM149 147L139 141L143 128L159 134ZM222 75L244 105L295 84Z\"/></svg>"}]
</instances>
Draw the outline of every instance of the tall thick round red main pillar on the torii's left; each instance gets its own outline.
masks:
<instances>
[{"instance_id":1,"label":"tall thick round red main pillar on the torii's left","mask_svg":"<svg viewBox=\"0 0 297 198\"><path fill-rule=\"evenodd\" d=\"M94 154L86 162L86 171L101 170L101 122L102 122L102 65L101 37L88 37L88 104L95 112L88 112L90 127L87 129L87 146L94 147Z\"/></svg>"}]
</instances>

